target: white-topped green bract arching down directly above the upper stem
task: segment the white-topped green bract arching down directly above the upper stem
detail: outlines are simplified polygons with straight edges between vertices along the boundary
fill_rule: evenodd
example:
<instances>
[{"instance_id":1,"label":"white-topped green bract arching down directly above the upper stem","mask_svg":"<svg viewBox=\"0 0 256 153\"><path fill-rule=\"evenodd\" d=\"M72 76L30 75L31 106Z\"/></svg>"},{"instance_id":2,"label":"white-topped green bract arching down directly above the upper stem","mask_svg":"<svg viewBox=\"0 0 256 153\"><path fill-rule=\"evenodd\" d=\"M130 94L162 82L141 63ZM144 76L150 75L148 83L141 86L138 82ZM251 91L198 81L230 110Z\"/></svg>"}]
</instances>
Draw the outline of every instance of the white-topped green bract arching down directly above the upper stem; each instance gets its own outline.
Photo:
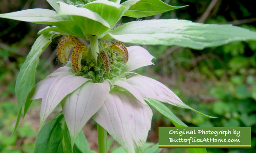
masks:
<instances>
[{"instance_id":1,"label":"white-topped green bract arching down directly above the upper stem","mask_svg":"<svg viewBox=\"0 0 256 153\"><path fill-rule=\"evenodd\" d=\"M58 3L60 4L60 10L57 16L70 17L81 28L84 36L88 34L96 36L102 35L110 29L108 22L102 19L98 13L87 8L68 5L63 2Z\"/></svg>"}]
</instances>

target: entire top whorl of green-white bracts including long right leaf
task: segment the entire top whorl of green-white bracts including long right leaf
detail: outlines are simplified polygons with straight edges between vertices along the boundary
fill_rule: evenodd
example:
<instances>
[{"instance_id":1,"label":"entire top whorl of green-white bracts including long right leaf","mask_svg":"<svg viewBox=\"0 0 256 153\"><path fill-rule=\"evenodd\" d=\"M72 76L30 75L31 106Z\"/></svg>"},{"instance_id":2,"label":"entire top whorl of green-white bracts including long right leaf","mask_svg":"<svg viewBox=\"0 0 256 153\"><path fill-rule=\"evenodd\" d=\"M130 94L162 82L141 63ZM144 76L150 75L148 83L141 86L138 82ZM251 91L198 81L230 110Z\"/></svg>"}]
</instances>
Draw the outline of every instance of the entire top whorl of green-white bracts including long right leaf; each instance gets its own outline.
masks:
<instances>
[{"instance_id":1,"label":"entire top whorl of green-white bracts including long right leaf","mask_svg":"<svg viewBox=\"0 0 256 153\"><path fill-rule=\"evenodd\" d=\"M180 45L194 49L227 44L237 40L256 39L256 32L231 25L205 25L178 19L133 21L119 26L122 16L146 17L181 8L161 0L95 0L73 6L67 0L47 0L56 10L29 9L0 14L0 17L52 25L40 33L54 31L88 39L102 39L140 45ZM71 1L67 1L70 2Z\"/></svg>"}]
</instances>

